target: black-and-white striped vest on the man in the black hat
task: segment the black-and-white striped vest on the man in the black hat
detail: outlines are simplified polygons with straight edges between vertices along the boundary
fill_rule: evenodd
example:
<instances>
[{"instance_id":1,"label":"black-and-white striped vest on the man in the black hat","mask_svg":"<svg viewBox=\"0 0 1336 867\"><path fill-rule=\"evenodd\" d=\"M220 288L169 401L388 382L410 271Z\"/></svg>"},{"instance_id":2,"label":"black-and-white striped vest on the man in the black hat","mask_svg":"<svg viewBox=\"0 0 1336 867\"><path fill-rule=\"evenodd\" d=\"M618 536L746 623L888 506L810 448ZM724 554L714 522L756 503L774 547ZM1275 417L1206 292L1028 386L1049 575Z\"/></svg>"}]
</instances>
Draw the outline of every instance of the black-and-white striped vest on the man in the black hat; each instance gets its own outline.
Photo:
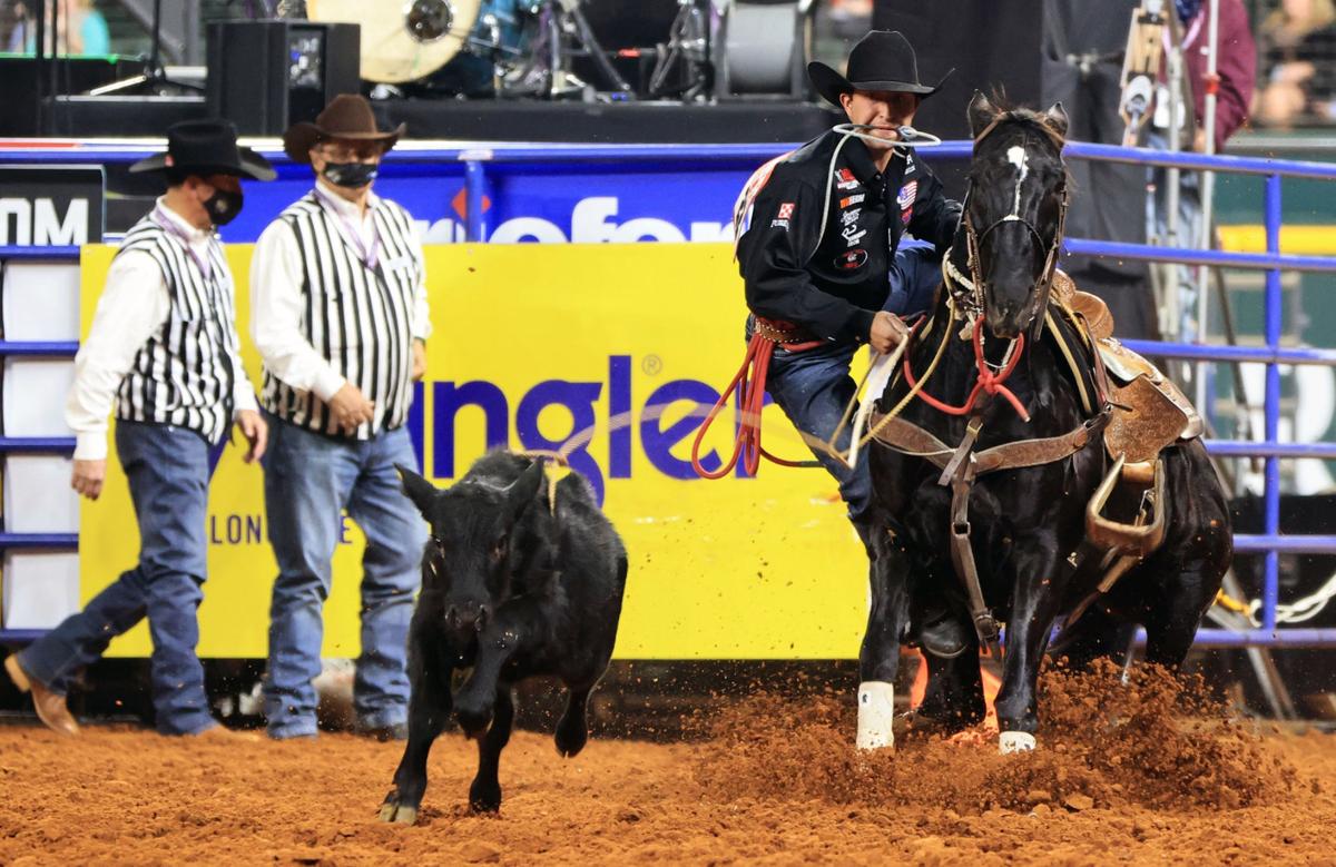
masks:
<instances>
[{"instance_id":1,"label":"black-and-white striped vest on the man in the black hat","mask_svg":"<svg viewBox=\"0 0 1336 867\"><path fill-rule=\"evenodd\" d=\"M116 418L175 425L216 444L232 418L239 358L232 274L223 244L210 238L206 277L186 240L154 220L135 223L116 255L142 250L162 269L171 310L135 354L116 391Z\"/></svg>"}]
</instances>

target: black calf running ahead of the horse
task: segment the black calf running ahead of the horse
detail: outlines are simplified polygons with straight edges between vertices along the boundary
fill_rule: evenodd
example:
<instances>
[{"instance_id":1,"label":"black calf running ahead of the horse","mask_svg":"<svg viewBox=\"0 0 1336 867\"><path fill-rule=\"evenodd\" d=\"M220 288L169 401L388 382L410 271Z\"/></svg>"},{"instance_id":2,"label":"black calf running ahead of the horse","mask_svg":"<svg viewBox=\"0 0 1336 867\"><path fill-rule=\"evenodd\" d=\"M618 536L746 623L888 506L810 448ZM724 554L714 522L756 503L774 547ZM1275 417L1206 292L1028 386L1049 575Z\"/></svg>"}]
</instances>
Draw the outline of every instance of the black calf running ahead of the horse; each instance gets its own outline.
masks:
<instances>
[{"instance_id":1,"label":"black calf running ahead of the horse","mask_svg":"<svg viewBox=\"0 0 1336 867\"><path fill-rule=\"evenodd\" d=\"M570 692L557 751L573 756L584 748L585 704L617 637L627 550L577 473L549 490L541 462L506 452L484 456L448 490L399 473L432 540L409 629L409 743L381 819L417 819L428 752L452 707L478 741L469 804L494 811L497 767L514 721L512 684L560 677ZM452 676L469 668L452 697Z\"/></svg>"}]
</instances>

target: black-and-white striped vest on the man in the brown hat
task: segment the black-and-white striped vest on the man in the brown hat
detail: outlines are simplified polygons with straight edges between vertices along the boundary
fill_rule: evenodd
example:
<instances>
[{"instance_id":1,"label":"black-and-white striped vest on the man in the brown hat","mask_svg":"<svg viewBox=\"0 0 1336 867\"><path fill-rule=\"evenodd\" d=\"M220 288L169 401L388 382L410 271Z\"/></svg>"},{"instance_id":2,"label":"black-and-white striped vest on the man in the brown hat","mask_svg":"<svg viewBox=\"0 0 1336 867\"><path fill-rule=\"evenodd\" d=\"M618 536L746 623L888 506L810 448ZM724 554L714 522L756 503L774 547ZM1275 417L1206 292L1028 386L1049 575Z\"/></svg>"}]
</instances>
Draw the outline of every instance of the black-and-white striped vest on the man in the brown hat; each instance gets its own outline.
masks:
<instances>
[{"instance_id":1,"label":"black-and-white striped vest on the man in the brown hat","mask_svg":"<svg viewBox=\"0 0 1336 867\"><path fill-rule=\"evenodd\" d=\"M278 218L293 228L302 255L303 337L375 407L371 421L353 436L357 440L407 421L413 401L413 299L422 279L407 211L381 198L367 207L379 235L374 267L345 239L347 228L314 191ZM314 391L294 389L269 367L261 403L299 427L345 436Z\"/></svg>"}]
</instances>

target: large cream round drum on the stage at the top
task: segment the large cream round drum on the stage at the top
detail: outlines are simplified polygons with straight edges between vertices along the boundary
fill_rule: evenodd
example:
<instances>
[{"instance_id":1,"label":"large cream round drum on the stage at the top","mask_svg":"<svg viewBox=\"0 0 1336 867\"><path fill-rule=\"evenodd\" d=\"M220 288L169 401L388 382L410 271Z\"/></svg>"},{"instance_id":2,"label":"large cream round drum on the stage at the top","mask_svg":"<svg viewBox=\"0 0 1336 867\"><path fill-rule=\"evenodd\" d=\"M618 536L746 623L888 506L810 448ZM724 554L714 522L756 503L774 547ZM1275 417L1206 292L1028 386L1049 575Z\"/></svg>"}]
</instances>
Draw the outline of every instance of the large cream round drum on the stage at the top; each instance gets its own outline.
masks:
<instances>
[{"instance_id":1,"label":"large cream round drum on the stage at the top","mask_svg":"<svg viewBox=\"0 0 1336 867\"><path fill-rule=\"evenodd\" d=\"M362 27L362 79L417 81L436 72L470 40L480 0L306 0L313 21Z\"/></svg>"}]
</instances>

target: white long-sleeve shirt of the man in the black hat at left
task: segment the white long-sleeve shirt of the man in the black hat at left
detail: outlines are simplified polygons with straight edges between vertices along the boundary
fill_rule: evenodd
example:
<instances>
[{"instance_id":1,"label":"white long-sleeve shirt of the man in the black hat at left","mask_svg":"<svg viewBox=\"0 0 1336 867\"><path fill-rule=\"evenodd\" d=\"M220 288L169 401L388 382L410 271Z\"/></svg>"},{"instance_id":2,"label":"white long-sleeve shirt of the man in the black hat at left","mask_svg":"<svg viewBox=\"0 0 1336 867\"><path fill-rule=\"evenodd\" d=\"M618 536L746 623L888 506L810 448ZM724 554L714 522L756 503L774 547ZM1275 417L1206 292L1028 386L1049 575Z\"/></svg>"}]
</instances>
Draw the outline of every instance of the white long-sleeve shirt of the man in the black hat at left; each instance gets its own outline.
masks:
<instances>
[{"instance_id":1,"label":"white long-sleeve shirt of the man in the black hat at left","mask_svg":"<svg viewBox=\"0 0 1336 867\"><path fill-rule=\"evenodd\" d=\"M182 231L198 256L207 258L208 231L195 228L162 198L158 199L158 211ZM75 355L75 382L65 399L65 423L75 431L76 461L107 457L107 417L120 381L170 313L167 279L152 256L142 250L118 255L107 271L88 338ZM228 325L236 327L235 322ZM259 405L246 371L238 365L232 389L234 417L243 410L258 411Z\"/></svg>"}]
</instances>

